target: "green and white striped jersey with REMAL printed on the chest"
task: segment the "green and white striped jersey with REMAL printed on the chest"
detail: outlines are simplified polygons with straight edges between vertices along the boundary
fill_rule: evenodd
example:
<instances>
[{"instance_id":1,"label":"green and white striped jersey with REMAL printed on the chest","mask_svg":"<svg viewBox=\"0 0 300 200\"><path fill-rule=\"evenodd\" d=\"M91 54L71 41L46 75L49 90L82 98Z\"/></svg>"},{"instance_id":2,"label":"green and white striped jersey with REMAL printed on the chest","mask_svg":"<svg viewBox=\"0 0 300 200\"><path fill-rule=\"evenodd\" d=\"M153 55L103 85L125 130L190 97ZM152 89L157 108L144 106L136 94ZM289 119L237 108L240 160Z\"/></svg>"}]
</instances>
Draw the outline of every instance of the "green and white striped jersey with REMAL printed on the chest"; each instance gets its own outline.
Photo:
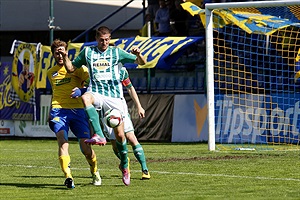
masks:
<instances>
[{"instance_id":1,"label":"green and white striped jersey with REMAL printed on the chest","mask_svg":"<svg viewBox=\"0 0 300 200\"><path fill-rule=\"evenodd\" d=\"M128 53L118 47L109 46L104 52L98 47L91 46L83 49L73 60L76 68L87 66L90 74L88 91L97 92L107 97L123 97L122 79L127 71L121 70L119 63L133 63L134 54ZM127 75L128 76L128 75Z\"/></svg>"}]
</instances>

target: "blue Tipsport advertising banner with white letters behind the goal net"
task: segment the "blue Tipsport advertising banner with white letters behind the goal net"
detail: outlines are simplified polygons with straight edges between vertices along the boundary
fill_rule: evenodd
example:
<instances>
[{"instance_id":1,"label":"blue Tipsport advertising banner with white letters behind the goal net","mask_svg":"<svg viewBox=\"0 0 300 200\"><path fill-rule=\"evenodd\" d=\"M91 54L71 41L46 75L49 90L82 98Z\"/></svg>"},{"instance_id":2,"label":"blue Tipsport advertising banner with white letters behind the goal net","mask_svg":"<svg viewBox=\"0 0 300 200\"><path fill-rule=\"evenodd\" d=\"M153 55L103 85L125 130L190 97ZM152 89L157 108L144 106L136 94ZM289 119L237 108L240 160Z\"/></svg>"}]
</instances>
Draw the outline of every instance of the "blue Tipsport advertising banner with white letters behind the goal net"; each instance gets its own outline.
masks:
<instances>
[{"instance_id":1,"label":"blue Tipsport advertising banner with white letters behind the goal net","mask_svg":"<svg viewBox=\"0 0 300 200\"><path fill-rule=\"evenodd\" d=\"M299 94L216 95L217 143L299 142Z\"/></svg>"}]
</instances>

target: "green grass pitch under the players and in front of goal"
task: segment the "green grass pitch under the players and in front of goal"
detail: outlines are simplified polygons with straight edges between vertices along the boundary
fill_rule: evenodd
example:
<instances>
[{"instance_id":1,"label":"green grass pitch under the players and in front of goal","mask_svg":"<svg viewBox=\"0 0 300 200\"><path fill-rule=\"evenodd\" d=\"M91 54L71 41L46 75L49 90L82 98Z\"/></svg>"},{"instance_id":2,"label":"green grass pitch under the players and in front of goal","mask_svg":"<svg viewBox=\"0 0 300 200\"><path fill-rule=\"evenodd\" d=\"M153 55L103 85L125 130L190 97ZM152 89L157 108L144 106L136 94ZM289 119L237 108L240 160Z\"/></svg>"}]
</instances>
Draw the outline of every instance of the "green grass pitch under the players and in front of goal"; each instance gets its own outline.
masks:
<instances>
[{"instance_id":1,"label":"green grass pitch under the players and in front of goal","mask_svg":"<svg viewBox=\"0 0 300 200\"><path fill-rule=\"evenodd\" d=\"M207 144L142 143L151 179L129 147L126 187L110 144L94 146L102 186L90 183L89 166L70 142L76 188L63 186L55 140L0 141L0 199L300 199L298 150L214 151Z\"/></svg>"}]
</instances>

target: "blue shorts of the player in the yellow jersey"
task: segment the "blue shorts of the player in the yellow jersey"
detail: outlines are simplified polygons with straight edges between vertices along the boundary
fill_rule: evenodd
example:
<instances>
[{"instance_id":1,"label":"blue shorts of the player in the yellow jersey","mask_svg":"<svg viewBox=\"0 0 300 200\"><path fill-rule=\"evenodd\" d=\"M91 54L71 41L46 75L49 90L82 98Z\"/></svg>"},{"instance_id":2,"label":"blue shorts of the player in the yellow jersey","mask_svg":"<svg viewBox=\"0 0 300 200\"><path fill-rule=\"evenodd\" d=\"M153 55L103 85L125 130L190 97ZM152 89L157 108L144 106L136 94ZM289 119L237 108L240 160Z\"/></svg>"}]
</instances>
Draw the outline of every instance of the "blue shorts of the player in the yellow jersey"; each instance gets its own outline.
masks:
<instances>
[{"instance_id":1,"label":"blue shorts of the player in the yellow jersey","mask_svg":"<svg viewBox=\"0 0 300 200\"><path fill-rule=\"evenodd\" d=\"M83 108L53 108L50 111L50 116L49 127L55 134L61 130L68 133L70 128L78 139L90 138L88 117Z\"/></svg>"}]
</instances>

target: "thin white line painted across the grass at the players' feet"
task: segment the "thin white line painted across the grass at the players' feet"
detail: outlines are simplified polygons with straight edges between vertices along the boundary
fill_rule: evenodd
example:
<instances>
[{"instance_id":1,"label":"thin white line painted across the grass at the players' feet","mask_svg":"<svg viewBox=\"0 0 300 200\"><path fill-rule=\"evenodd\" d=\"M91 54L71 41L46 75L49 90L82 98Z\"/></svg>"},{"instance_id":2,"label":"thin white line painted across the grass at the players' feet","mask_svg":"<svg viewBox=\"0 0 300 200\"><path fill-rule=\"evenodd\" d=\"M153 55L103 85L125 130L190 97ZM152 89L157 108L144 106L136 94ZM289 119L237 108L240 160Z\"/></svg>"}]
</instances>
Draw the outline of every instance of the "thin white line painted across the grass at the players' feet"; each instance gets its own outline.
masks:
<instances>
[{"instance_id":1,"label":"thin white line painted across the grass at the players' feet","mask_svg":"<svg viewBox=\"0 0 300 200\"><path fill-rule=\"evenodd\" d=\"M45 169L58 169L59 167L47 167L47 166L32 166L32 165L12 165L12 164L1 164L1 167L24 167L24 168L45 168ZM72 170L88 170L89 168L74 168ZM101 168L103 170L103 168ZM115 171L113 169L105 169L104 171ZM140 170L131 170L132 172L140 172ZM228 177L228 178L247 178L247 179L259 179L259 180L274 180L274 181L297 181L300 179L296 178L272 178L272 177L262 177L262 176L238 176L238 175L228 175L228 174L202 174L202 173L192 173L192 172L166 172L166 171L151 171L151 173L157 174L173 174L173 175L191 175L191 176L212 176L212 177Z\"/></svg>"}]
</instances>

